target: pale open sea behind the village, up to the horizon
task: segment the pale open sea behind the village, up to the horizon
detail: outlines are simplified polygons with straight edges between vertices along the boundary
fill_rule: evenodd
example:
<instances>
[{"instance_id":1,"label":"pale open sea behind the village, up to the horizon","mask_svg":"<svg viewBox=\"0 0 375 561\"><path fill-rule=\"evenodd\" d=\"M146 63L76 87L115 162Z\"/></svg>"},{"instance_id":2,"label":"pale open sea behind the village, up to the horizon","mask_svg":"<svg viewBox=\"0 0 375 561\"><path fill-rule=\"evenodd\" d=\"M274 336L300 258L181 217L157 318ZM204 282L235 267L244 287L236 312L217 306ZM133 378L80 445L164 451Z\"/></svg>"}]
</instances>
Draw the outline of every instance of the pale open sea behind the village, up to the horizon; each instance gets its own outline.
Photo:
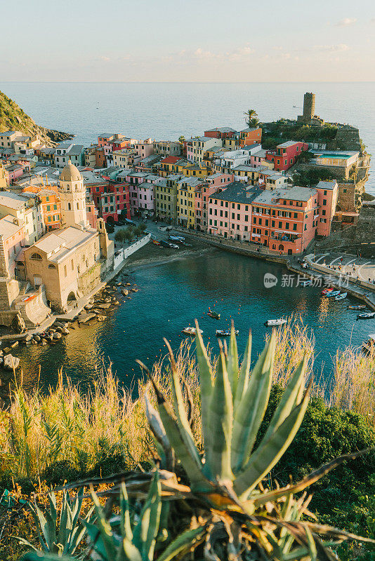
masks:
<instances>
[{"instance_id":1,"label":"pale open sea behind the village, up to the horizon","mask_svg":"<svg viewBox=\"0 0 375 561\"><path fill-rule=\"evenodd\" d=\"M243 111L262 121L301 114L303 94L316 93L315 112L326 121L360 128L375 155L375 83L13 83L0 82L37 123L91 144L98 134L176 140L214 126L244 126ZM296 105L297 107L293 107ZM98 107L98 109L97 109ZM372 158L373 168L375 156ZM373 174L374 176L374 174ZM371 177L367 191L375 194Z\"/></svg>"}]
</instances>

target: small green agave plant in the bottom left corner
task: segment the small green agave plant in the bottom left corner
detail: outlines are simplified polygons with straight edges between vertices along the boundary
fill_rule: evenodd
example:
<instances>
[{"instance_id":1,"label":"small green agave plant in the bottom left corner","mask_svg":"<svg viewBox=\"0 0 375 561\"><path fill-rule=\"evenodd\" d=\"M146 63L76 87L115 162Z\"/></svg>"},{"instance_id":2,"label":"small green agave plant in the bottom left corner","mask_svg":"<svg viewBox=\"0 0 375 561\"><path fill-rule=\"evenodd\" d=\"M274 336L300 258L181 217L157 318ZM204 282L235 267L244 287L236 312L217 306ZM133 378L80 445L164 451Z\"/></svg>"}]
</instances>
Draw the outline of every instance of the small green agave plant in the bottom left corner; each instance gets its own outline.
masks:
<instances>
[{"instance_id":1,"label":"small green agave plant in the bottom left corner","mask_svg":"<svg viewBox=\"0 0 375 561\"><path fill-rule=\"evenodd\" d=\"M86 534L86 527L84 524L91 520L91 514L93 513L93 508L91 508L84 520L79 518L83 498L83 487L79 489L73 503L69 493L65 491L62 496L60 518L58 517L56 496L53 492L48 493L50 508L45 513L41 512L37 503L35 503L34 506L31 504L29 505L35 524L37 525L39 543L43 551L55 553L58 557L61 555L74 554ZM39 551L26 539L20 537L17 539L20 544L36 552Z\"/></svg>"}]
</instances>

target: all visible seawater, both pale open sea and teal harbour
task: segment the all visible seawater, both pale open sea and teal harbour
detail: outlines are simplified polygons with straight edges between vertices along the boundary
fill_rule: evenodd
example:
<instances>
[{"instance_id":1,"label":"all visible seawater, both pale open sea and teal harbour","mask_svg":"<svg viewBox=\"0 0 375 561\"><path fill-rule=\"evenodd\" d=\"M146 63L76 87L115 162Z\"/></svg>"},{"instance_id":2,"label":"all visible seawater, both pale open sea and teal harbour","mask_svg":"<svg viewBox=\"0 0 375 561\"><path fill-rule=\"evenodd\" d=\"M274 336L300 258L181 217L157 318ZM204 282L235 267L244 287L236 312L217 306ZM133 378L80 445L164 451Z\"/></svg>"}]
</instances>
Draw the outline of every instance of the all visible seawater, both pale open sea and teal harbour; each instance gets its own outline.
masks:
<instances>
[{"instance_id":1,"label":"all visible seawater, both pale open sea and teal harbour","mask_svg":"<svg viewBox=\"0 0 375 561\"><path fill-rule=\"evenodd\" d=\"M74 142L85 145L105 132L176 140L215 126L242 128L249 108L263 121L292 118L301 113L303 94L313 91L315 112L327 121L359 127L364 144L375 153L375 83L0 83L0 89L40 125L73 133ZM373 176L367 191L375 195ZM255 357L269 332L265 320L292 314L314 337L315 374L328 381L337 349L359 347L375 330L369 325L374 320L356 321L356 313L347 309L358 303L355 299L322 299L321 288L283 283L288 271L281 265L221 250L130 265L125 272L140 290L105 322L78 327L54 346L15 350L25 388L31 390L38 380L41 387L54 386L60 368L88 388L101 365L112 363L124 386L136 391L141 375L136 358L152 365L165 356L163 337L177 349L181 330L195 318L213 351L218 351L215 330L232 319L239 329L239 349L251 328ZM277 286L265 288L265 273L278 278ZM220 321L207 317L209 306L221 313Z\"/></svg>"}]
</instances>

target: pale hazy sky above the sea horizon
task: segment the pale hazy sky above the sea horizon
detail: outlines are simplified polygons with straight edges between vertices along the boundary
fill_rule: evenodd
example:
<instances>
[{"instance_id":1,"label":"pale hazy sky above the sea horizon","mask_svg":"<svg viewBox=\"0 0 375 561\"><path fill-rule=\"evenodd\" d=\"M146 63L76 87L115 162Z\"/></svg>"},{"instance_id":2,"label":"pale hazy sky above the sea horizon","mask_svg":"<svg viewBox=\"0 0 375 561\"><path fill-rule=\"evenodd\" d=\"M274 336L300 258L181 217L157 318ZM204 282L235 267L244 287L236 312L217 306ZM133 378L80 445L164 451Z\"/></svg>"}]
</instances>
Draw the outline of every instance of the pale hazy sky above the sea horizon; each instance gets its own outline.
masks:
<instances>
[{"instance_id":1,"label":"pale hazy sky above the sea horizon","mask_svg":"<svg viewBox=\"0 0 375 561\"><path fill-rule=\"evenodd\" d=\"M0 0L0 81L375 81L374 0Z\"/></svg>"}]
</instances>

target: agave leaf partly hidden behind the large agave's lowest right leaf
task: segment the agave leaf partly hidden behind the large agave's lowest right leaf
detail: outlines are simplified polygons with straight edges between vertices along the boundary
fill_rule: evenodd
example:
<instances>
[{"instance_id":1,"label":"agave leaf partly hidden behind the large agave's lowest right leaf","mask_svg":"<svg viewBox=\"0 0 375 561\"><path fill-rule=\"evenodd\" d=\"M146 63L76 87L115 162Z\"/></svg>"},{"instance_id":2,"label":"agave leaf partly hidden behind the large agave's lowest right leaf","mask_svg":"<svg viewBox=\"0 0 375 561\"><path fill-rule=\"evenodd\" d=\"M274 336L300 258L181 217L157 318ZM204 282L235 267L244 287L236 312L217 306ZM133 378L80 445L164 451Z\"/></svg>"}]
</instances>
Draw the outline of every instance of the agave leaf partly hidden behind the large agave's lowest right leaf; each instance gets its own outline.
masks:
<instances>
[{"instance_id":1,"label":"agave leaf partly hidden behind the large agave's lowest right leaf","mask_svg":"<svg viewBox=\"0 0 375 561\"><path fill-rule=\"evenodd\" d=\"M303 360L296 367L293 376L291 377L287 387L282 393L282 397L277 404L276 410L272 415L270 424L268 425L267 431L264 435L264 439L268 440L270 435L275 432L275 430L287 419L291 410L296 407L301 402L302 393L304 389L305 372L308 367L308 356L305 354Z\"/></svg>"}]
</instances>

